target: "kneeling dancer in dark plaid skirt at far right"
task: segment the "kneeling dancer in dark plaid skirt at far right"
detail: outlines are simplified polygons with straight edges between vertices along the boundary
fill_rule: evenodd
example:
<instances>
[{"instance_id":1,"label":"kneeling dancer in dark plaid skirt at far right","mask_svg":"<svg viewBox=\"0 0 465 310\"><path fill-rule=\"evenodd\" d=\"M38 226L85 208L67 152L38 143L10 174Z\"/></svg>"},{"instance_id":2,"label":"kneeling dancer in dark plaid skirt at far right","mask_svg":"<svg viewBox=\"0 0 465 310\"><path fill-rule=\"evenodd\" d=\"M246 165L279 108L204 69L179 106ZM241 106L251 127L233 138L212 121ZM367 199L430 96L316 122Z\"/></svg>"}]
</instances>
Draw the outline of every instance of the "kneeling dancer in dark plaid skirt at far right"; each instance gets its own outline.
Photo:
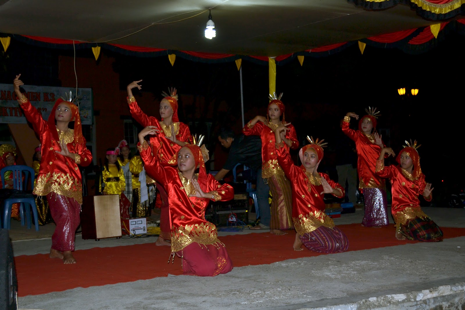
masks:
<instances>
[{"instance_id":1,"label":"kneeling dancer in dark plaid skirt at far right","mask_svg":"<svg viewBox=\"0 0 465 310\"><path fill-rule=\"evenodd\" d=\"M393 155L390 147L383 148L376 161L376 174L389 178L392 185L392 217L396 222L396 238L419 241L442 241L442 231L420 208L419 195L431 201L430 183L425 182L421 172L417 141L405 141L404 149L399 152L396 161L399 166L384 166L385 154Z\"/></svg>"}]
</instances>

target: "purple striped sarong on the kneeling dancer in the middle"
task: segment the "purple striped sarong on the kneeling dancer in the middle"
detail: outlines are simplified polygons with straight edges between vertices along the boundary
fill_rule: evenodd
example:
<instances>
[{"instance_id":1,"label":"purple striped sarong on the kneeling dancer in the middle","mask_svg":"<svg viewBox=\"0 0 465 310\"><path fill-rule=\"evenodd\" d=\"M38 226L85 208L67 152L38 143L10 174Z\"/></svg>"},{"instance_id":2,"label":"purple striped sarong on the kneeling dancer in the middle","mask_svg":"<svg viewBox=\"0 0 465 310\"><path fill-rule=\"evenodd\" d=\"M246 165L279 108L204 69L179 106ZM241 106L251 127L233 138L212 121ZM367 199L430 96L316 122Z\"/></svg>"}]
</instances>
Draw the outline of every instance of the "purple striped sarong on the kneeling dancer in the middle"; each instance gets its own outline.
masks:
<instances>
[{"instance_id":1,"label":"purple striped sarong on the kneeling dancer in the middle","mask_svg":"<svg viewBox=\"0 0 465 310\"><path fill-rule=\"evenodd\" d=\"M336 226L320 226L300 236L300 240L308 250L319 253L345 252L349 248L349 240Z\"/></svg>"}]
</instances>

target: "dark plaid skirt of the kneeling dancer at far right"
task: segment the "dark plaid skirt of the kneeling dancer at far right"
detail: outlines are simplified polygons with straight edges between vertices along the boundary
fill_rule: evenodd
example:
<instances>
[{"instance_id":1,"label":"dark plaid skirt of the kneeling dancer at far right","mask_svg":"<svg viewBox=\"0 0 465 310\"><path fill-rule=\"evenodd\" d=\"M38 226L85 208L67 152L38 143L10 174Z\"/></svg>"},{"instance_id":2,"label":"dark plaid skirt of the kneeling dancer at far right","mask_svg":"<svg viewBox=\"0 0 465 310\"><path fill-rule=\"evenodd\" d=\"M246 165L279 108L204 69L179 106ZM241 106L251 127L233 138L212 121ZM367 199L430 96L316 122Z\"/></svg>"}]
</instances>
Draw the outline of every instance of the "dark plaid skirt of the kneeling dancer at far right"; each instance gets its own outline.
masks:
<instances>
[{"instance_id":1,"label":"dark plaid skirt of the kneeling dancer at far right","mask_svg":"<svg viewBox=\"0 0 465 310\"><path fill-rule=\"evenodd\" d=\"M405 225L398 225L398 231L409 240L437 242L443 239L441 229L429 217L416 217L408 220Z\"/></svg>"}]
</instances>

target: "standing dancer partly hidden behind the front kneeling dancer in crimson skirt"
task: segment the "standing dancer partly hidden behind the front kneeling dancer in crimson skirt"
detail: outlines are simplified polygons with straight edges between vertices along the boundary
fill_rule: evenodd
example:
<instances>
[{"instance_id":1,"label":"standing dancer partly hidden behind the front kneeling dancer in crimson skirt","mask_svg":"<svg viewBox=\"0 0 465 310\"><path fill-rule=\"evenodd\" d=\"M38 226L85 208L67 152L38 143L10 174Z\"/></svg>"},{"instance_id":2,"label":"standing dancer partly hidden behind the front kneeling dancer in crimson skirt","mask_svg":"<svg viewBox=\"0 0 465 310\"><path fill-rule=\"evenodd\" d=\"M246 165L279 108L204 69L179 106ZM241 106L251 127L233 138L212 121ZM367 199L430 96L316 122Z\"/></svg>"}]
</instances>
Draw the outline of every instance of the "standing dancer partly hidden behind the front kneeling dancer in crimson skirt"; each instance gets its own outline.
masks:
<instances>
[{"instance_id":1,"label":"standing dancer partly hidden behind the front kneeling dancer in crimson skirt","mask_svg":"<svg viewBox=\"0 0 465 310\"><path fill-rule=\"evenodd\" d=\"M142 126L156 126L157 132L163 131L163 134L157 134L150 137L150 145L153 149L154 156L159 158L161 165L170 165L170 162L176 160L173 158L174 154L187 143L192 143L191 132L189 127L179 122L178 119L178 95L176 89L171 89L170 94L163 92L163 98L160 101L160 116L161 123L153 116L147 116L140 110L137 105L136 99L133 96L132 89L137 87L141 89L140 83L142 80L134 81L127 86L127 103L131 110L133 118ZM154 176L151 176L154 178ZM168 197L166 191L161 186L158 186L159 197L161 198L161 214L160 214L160 236L155 244L157 245L170 245L169 240L170 226L168 219ZM158 199L158 198L157 198Z\"/></svg>"}]
</instances>

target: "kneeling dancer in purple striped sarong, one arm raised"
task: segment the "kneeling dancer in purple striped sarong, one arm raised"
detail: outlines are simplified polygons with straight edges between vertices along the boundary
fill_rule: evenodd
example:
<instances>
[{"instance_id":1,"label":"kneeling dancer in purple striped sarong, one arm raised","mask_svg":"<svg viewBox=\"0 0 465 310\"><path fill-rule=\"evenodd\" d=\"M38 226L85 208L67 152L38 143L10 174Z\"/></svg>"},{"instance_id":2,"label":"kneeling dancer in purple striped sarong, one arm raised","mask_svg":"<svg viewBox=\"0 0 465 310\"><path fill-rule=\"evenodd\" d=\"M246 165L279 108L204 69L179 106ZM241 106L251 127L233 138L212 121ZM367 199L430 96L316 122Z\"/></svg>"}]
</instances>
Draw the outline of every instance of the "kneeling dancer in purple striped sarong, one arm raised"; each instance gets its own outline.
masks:
<instances>
[{"instance_id":1,"label":"kneeling dancer in purple striped sarong, one arm raised","mask_svg":"<svg viewBox=\"0 0 465 310\"><path fill-rule=\"evenodd\" d=\"M289 130L287 124L279 125L275 130L276 152L279 165L286 172L292 185L292 221L296 232L294 251L302 251L302 244L310 251L321 253L345 252L349 241L345 234L334 226L332 218L325 213L325 194L343 198L344 188L334 182L326 173L317 172L323 159L324 140L305 145L299 151L300 167L294 165L289 149L281 140L281 132Z\"/></svg>"}]
</instances>

